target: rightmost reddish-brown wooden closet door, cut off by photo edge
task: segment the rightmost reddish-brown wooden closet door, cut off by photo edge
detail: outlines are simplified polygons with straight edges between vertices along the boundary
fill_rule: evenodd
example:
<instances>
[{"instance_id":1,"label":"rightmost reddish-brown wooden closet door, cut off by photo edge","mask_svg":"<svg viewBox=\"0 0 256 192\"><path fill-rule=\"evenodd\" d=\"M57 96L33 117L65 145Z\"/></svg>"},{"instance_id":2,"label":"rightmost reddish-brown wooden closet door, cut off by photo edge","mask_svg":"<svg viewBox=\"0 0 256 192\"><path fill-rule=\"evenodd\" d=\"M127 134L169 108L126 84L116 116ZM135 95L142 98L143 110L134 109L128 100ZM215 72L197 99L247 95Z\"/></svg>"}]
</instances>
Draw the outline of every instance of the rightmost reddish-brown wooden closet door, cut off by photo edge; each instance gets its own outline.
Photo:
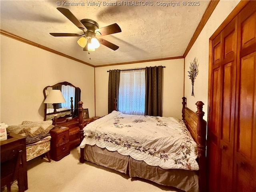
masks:
<instances>
[{"instance_id":1,"label":"rightmost reddish-brown wooden closet door, cut off by photo edge","mask_svg":"<svg viewBox=\"0 0 256 192\"><path fill-rule=\"evenodd\" d=\"M256 2L238 14L234 191L256 191Z\"/></svg>"}]
</instances>

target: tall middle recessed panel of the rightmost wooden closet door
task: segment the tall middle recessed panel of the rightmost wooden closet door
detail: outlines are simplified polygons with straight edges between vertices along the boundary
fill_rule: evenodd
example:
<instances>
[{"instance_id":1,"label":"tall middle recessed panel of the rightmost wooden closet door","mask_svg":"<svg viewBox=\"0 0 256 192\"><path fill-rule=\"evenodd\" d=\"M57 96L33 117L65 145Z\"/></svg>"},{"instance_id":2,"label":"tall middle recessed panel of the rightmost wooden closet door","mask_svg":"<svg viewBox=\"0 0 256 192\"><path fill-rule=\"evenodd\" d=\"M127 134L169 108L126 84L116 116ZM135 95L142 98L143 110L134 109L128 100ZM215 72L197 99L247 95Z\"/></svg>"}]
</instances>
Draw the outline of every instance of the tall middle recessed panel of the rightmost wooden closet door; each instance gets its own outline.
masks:
<instances>
[{"instance_id":1,"label":"tall middle recessed panel of the rightmost wooden closet door","mask_svg":"<svg viewBox=\"0 0 256 192\"><path fill-rule=\"evenodd\" d=\"M241 59L238 143L236 151L252 158L255 98L255 53Z\"/></svg>"}]
</instances>

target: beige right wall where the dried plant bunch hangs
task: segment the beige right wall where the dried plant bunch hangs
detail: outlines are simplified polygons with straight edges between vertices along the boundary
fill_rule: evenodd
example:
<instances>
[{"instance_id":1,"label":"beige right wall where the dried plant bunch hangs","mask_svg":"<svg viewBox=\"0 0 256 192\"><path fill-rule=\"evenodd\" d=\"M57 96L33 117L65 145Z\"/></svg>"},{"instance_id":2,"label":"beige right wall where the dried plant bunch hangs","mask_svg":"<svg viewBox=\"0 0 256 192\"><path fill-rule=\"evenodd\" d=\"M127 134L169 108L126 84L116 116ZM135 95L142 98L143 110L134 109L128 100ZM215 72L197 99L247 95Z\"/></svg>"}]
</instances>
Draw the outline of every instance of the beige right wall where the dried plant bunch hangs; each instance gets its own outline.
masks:
<instances>
[{"instance_id":1,"label":"beige right wall where the dried plant bunch hangs","mask_svg":"<svg viewBox=\"0 0 256 192\"><path fill-rule=\"evenodd\" d=\"M196 111L195 103L200 100L204 102L204 119L207 120L208 109L208 65L209 65L209 38L217 30L217 28L226 19L228 14L239 3L236 1L221 0L214 12L210 16L208 22L204 26L202 32L198 36L196 42L188 52L185 58L185 97L187 98L187 107ZM190 62L194 58L199 62L199 73L194 83L194 97L191 96L192 85L191 80L188 77L188 71L190 71Z\"/></svg>"}]
</instances>

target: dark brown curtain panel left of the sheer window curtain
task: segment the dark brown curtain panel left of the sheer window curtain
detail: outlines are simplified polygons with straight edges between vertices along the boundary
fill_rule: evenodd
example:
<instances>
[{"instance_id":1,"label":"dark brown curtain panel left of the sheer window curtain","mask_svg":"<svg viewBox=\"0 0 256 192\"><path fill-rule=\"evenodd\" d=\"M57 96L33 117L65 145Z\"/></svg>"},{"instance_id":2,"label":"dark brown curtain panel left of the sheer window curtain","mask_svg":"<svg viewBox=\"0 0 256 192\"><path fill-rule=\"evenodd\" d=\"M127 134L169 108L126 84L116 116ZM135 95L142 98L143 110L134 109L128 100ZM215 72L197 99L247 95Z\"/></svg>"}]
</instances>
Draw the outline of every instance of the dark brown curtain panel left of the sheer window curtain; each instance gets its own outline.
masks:
<instances>
[{"instance_id":1,"label":"dark brown curtain panel left of the sheer window curtain","mask_svg":"<svg viewBox=\"0 0 256 192\"><path fill-rule=\"evenodd\" d=\"M114 98L117 98L118 109L118 90L120 82L120 70L110 70L108 76L108 113L114 110Z\"/></svg>"}]
</instances>

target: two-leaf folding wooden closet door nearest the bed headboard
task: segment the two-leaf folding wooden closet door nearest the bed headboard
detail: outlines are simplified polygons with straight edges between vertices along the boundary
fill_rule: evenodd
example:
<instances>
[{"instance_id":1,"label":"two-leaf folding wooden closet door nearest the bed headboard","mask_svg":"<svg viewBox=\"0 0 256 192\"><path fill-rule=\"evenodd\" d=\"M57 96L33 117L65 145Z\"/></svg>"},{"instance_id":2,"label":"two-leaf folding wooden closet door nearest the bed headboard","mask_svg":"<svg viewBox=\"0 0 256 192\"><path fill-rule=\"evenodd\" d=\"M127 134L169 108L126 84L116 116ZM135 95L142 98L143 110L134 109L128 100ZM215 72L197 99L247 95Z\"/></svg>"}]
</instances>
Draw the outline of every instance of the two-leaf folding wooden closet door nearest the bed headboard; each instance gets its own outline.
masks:
<instances>
[{"instance_id":1,"label":"two-leaf folding wooden closet door nearest the bed headboard","mask_svg":"<svg viewBox=\"0 0 256 192\"><path fill-rule=\"evenodd\" d=\"M208 131L209 191L232 192L237 18L213 40L212 100Z\"/></svg>"}]
</instances>

